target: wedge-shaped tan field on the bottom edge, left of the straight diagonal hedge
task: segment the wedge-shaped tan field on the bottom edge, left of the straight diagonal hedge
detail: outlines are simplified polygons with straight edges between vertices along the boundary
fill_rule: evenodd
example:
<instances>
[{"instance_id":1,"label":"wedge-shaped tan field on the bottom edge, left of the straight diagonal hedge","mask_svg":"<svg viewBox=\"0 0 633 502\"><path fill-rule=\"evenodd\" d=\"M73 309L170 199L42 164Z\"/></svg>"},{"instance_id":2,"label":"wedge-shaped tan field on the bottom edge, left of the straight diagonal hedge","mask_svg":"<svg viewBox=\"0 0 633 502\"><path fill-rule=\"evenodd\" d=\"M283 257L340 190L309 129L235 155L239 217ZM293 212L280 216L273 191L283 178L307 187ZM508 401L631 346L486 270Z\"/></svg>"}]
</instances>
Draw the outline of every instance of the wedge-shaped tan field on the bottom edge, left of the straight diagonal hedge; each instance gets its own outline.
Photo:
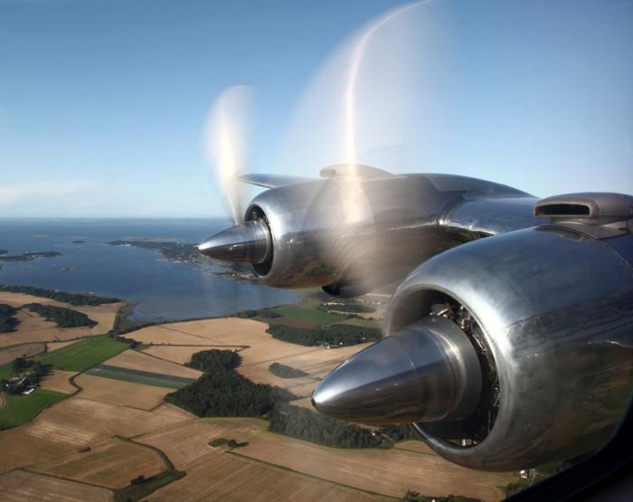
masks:
<instances>
[{"instance_id":1,"label":"wedge-shaped tan field on the bottom edge, left of the straight diagonal hedge","mask_svg":"<svg viewBox=\"0 0 633 502\"><path fill-rule=\"evenodd\" d=\"M147 497L172 500L327 500L369 502L385 500L358 490L337 487L288 470L278 469L231 453L215 455L187 471L187 475Z\"/></svg>"}]
</instances>

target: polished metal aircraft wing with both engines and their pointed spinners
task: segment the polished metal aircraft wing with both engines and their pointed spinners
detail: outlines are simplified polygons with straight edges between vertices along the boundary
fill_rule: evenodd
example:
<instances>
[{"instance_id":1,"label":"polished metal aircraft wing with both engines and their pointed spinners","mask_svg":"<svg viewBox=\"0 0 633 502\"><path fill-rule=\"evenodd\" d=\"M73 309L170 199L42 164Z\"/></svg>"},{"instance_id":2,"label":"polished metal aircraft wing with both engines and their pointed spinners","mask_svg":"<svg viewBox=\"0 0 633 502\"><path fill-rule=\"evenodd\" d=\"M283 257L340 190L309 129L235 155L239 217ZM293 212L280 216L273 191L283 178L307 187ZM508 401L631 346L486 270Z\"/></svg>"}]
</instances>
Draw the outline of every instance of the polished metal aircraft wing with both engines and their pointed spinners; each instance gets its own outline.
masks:
<instances>
[{"instance_id":1,"label":"polished metal aircraft wing with both engines and their pointed spinners","mask_svg":"<svg viewBox=\"0 0 633 502\"><path fill-rule=\"evenodd\" d=\"M633 388L633 197L537 201L461 176L349 170L270 188L200 246L279 288L355 296L406 278L383 340L326 376L316 410L413 422L475 469L600 446Z\"/></svg>"}]
</instances>

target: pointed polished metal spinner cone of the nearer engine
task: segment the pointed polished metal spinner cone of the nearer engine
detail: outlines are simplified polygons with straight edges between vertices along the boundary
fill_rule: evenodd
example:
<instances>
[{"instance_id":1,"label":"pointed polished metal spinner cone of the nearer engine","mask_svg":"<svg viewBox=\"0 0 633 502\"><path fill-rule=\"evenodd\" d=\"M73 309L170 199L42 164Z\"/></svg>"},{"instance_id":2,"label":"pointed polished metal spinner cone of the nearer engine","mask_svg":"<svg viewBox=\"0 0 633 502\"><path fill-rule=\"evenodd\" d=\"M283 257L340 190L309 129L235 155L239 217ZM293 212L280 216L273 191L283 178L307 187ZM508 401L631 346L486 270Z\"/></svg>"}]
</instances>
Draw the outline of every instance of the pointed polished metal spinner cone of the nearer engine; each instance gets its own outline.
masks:
<instances>
[{"instance_id":1,"label":"pointed polished metal spinner cone of the nearer engine","mask_svg":"<svg viewBox=\"0 0 633 502\"><path fill-rule=\"evenodd\" d=\"M427 317L354 355L312 395L318 412L346 421L402 423L468 416L481 370L468 336L444 317Z\"/></svg>"}]
</instances>

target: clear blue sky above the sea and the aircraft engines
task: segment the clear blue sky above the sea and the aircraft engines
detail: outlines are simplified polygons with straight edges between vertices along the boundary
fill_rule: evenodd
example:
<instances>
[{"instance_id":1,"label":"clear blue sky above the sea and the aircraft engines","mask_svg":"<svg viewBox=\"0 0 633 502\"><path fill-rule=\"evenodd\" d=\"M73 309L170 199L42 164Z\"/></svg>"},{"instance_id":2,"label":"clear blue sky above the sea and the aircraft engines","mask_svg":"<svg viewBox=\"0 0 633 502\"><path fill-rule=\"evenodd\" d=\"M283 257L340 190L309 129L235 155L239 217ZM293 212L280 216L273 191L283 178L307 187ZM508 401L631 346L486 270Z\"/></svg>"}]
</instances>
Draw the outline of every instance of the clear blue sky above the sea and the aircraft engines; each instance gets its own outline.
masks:
<instances>
[{"instance_id":1,"label":"clear blue sky above the sea and the aircraft engines","mask_svg":"<svg viewBox=\"0 0 633 502\"><path fill-rule=\"evenodd\" d=\"M354 33L399 5L0 0L0 216L227 214L201 137L237 84L257 90L252 170L339 161ZM361 160L542 196L633 193L631 25L629 0L402 14L359 74Z\"/></svg>"}]
</instances>

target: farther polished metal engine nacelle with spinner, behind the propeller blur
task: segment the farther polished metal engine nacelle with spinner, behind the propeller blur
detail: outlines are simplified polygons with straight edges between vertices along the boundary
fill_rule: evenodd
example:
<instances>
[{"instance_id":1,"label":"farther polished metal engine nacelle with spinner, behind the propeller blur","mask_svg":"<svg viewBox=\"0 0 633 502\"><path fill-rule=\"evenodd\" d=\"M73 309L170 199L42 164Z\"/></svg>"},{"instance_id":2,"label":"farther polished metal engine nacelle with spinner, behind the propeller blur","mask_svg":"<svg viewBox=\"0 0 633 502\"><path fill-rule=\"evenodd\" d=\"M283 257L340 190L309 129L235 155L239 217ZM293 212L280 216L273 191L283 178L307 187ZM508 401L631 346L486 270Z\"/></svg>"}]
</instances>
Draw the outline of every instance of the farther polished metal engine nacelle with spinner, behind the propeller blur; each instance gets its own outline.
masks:
<instances>
[{"instance_id":1,"label":"farther polished metal engine nacelle with spinner, behind the propeller blur","mask_svg":"<svg viewBox=\"0 0 633 502\"><path fill-rule=\"evenodd\" d=\"M324 170L327 179L259 194L243 223L213 235L200 251L249 262L269 286L323 287L351 297L402 280L430 256L472 239L439 226L469 197L499 199L481 212L503 213L506 204L515 211L513 225L534 225L534 199L504 185L461 176L391 175L368 166L355 166L361 175L350 177L348 167Z\"/></svg>"}]
</instances>

